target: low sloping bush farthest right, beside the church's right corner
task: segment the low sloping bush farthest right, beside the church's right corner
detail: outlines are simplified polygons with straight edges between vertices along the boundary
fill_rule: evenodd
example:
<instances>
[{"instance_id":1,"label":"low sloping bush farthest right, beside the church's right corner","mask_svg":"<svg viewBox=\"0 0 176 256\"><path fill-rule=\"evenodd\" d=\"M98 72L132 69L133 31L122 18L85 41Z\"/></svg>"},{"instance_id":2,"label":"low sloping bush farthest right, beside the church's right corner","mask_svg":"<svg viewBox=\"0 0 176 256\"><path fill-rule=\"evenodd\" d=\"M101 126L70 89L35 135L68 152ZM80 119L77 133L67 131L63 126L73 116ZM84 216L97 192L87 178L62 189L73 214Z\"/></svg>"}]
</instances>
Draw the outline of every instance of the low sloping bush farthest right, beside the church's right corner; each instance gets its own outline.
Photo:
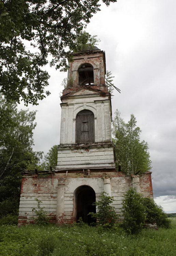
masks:
<instances>
[{"instance_id":1,"label":"low sloping bush farthest right, beside the church's right corner","mask_svg":"<svg viewBox=\"0 0 176 256\"><path fill-rule=\"evenodd\" d=\"M143 205L145 207L146 222L156 223L157 227L170 228L171 221L163 212L162 207L158 206L151 198L143 198Z\"/></svg>"}]
</instances>

